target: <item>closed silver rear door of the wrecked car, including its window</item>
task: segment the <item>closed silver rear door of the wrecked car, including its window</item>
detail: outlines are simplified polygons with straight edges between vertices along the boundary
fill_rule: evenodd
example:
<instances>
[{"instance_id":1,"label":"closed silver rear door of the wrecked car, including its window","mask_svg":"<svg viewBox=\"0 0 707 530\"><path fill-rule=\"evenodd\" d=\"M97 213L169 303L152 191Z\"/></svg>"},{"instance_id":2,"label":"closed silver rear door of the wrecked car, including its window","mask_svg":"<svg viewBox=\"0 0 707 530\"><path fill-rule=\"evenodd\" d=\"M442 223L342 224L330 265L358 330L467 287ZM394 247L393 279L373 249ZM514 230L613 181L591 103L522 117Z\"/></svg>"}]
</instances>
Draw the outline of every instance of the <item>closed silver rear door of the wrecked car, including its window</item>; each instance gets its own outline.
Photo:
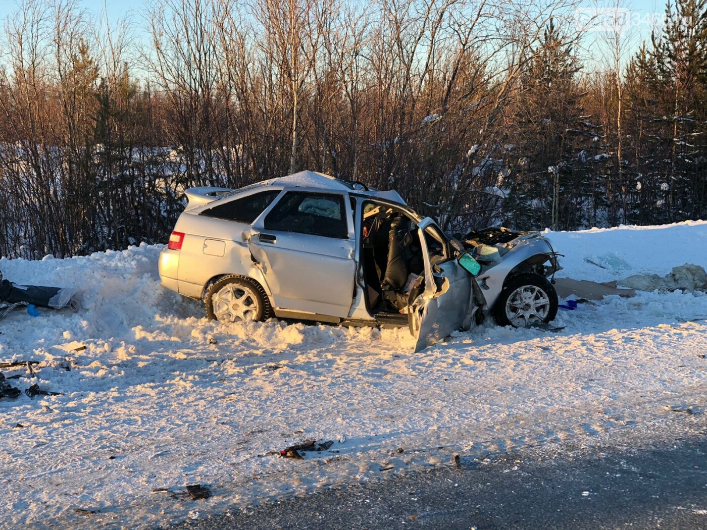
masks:
<instances>
[{"instance_id":1,"label":"closed silver rear door of the wrecked car, including its window","mask_svg":"<svg viewBox=\"0 0 707 530\"><path fill-rule=\"evenodd\" d=\"M348 196L286 192L252 227L250 252L275 307L349 316L354 298L354 225Z\"/></svg>"}]
</instances>

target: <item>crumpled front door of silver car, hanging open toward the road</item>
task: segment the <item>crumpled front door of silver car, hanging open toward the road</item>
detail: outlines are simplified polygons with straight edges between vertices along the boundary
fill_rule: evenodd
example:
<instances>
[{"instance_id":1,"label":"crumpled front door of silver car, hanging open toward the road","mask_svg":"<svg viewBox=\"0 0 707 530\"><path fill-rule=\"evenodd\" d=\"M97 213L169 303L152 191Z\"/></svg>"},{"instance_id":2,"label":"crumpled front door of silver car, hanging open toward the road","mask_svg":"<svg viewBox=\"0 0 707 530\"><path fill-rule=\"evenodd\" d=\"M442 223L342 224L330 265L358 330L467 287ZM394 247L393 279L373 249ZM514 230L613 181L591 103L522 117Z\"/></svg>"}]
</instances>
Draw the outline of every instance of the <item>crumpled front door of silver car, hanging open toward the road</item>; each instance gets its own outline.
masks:
<instances>
[{"instance_id":1,"label":"crumpled front door of silver car, hanging open toward the road","mask_svg":"<svg viewBox=\"0 0 707 530\"><path fill-rule=\"evenodd\" d=\"M427 217L417 227L425 265L425 288L407 308L416 352L442 341L456 329L468 328L474 310L472 276L452 256L432 264L428 242L439 242L444 252L451 252L438 225Z\"/></svg>"}]
</instances>

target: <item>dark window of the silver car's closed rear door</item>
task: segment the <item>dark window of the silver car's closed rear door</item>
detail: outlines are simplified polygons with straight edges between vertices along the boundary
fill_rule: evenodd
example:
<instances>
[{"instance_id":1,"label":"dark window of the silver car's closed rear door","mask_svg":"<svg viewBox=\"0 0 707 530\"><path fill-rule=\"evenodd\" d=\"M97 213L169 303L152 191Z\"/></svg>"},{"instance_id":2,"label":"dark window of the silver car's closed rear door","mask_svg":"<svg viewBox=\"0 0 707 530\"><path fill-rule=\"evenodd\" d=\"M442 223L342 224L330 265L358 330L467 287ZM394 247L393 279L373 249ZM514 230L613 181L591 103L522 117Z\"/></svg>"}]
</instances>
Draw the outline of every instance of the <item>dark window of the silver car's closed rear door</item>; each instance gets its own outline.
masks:
<instances>
[{"instance_id":1,"label":"dark window of the silver car's closed rear door","mask_svg":"<svg viewBox=\"0 0 707 530\"><path fill-rule=\"evenodd\" d=\"M264 225L266 230L349 237L342 195L288 192L267 214Z\"/></svg>"}]
</instances>

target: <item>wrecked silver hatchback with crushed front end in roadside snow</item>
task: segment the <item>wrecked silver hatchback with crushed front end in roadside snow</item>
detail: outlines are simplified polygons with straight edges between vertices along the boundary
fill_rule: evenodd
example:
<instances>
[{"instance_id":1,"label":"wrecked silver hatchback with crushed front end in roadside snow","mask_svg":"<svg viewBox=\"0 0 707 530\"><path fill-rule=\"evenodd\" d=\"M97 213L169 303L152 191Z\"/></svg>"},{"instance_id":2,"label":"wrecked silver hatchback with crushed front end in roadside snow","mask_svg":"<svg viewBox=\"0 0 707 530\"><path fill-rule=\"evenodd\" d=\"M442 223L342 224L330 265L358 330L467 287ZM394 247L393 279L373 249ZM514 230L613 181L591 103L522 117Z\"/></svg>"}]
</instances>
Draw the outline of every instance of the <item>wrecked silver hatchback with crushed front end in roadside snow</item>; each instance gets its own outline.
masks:
<instances>
[{"instance_id":1,"label":"wrecked silver hatchback with crushed front end in roadside snow","mask_svg":"<svg viewBox=\"0 0 707 530\"><path fill-rule=\"evenodd\" d=\"M540 258L522 250L529 238L515 237L493 262L492 252L481 255L484 247L470 243L467 252L397 192L303 171L238 190L185 193L187 208L160 254L160 278L203 300L209 318L409 326L417 351L468 328L497 300L511 300L504 302L509 324L524 325L517 312L525 322L554 317L552 304L543 305L554 290L539 276ZM509 260L511 252L525 259ZM525 273L523 281L507 283L510 271Z\"/></svg>"}]
</instances>

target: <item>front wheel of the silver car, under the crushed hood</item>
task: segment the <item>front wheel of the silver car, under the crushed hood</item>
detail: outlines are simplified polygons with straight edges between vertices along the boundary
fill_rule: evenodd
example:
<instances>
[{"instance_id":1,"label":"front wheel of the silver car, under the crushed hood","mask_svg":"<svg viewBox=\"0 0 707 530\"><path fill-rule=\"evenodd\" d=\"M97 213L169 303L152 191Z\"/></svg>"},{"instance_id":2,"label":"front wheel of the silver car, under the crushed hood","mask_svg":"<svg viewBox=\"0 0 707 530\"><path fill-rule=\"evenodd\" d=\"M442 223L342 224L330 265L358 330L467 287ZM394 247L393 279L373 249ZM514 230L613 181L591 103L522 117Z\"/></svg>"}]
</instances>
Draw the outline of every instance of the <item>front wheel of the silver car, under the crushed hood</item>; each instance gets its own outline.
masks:
<instances>
[{"instance_id":1,"label":"front wheel of the silver car, under the crushed hood","mask_svg":"<svg viewBox=\"0 0 707 530\"><path fill-rule=\"evenodd\" d=\"M557 292L544 276L520 273L508 278L493 305L500 326L527 328L550 322L557 315Z\"/></svg>"}]
</instances>

